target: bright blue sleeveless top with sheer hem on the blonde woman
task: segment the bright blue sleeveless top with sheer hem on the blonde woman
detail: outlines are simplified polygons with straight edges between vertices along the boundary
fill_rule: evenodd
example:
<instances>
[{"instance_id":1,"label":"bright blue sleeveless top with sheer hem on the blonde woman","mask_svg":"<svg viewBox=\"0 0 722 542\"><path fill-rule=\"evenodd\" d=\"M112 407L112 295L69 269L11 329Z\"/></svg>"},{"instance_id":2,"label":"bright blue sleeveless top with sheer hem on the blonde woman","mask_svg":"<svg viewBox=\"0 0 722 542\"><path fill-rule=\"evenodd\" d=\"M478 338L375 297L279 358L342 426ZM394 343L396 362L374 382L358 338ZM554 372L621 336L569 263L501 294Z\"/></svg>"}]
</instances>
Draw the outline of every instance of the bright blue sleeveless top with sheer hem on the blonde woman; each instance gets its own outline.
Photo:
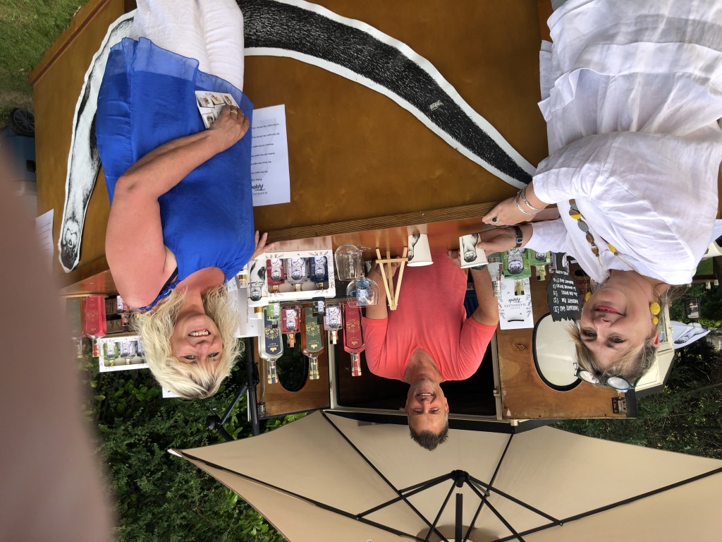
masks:
<instances>
[{"instance_id":1,"label":"bright blue sleeveless top with sheer hem on the blonde woman","mask_svg":"<svg viewBox=\"0 0 722 542\"><path fill-rule=\"evenodd\" d=\"M116 181L131 165L166 142L205 129L196 90L230 93L250 119L250 100L198 66L198 61L146 38L125 38L110 50L95 130L111 205ZM253 254L251 130L199 165L158 202L163 242L175 255L178 278L144 309L205 267L218 267L230 280Z\"/></svg>"}]
</instances>

